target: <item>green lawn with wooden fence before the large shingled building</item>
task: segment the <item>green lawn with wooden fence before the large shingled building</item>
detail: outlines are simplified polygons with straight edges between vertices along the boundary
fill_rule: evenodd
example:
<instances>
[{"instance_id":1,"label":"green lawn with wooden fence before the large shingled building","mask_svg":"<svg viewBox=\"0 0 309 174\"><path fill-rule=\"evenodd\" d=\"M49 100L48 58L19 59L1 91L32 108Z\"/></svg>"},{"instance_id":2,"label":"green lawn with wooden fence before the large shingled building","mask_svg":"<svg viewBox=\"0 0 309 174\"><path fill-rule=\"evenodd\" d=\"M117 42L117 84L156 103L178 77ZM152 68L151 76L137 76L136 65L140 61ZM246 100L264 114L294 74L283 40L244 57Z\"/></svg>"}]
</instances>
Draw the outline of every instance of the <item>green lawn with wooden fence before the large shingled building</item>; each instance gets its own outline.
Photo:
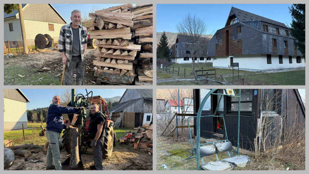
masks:
<instances>
[{"instance_id":1,"label":"green lawn with wooden fence before the large shingled building","mask_svg":"<svg viewBox=\"0 0 309 174\"><path fill-rule=\"evenodd\" d=\"M178 71L178 67L180 68L179 76L178 72L174 72L173 75L173 67L174 71ZM204 70L216 69L216 78L214 75L208 76L208 78L221 81L220 74L223 74L225 79L233 84L233 85L242 85L241 78L244 78L244 85L305 85L305 70L294 70L294 71L286 71L286 72L250 72L250 71L242 71L239 70L239 80L238 80L238 70L234 69L234 80L233 80L233 70L232 69L221 69L212 67L212 63L200 63L199 68L197 68L197 64L194 66L194 70L201 70L203 67ZM184 76L184 69L186 69L186 74ZM160 70L157 68L157 79L195 79L194 74L191 74L192 64L172 64L171 65L171 74L169 74L169 70ZM203 72L205 74L206 72ZM209 71L209 74L214 74L214 71ZM198 72L198 75L201 75L201 72ZM206 76L203 76L206 78ZM195 85L194 81L185 82L185 81L174 81L174 82L158 82L157 85ZM200 85L205 85L205 80L199 80ZM220 85L218 83L209 82L209 85Z\"/></svg>"}]
</instances>

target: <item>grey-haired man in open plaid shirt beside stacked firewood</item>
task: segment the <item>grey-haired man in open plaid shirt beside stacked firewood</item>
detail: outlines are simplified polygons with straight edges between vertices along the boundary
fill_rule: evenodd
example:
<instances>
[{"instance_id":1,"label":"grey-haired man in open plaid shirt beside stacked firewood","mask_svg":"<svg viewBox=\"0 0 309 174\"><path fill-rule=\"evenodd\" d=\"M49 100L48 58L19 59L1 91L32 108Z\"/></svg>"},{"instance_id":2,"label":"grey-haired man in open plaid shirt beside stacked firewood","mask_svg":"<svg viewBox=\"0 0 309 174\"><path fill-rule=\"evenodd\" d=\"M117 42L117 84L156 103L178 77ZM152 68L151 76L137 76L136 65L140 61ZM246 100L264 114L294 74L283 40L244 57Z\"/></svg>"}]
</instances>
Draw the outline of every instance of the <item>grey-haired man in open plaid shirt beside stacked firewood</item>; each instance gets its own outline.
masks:
<instances>
[{"instance_id":1,"label":"grey-haired man in open plaid shirt beside stacked firewood","mask_svg":"<svg viewBox=\"0 0 309 174\"><path fill-rule=\"evenodd\" d=\"M86 66L87 29L80 25L81 12L73 10L71 23L61 27L59 34L59 52L66 65L64 85L72 85L76 68L76 85L84 85Z\"/></svg>"}]
</instances>

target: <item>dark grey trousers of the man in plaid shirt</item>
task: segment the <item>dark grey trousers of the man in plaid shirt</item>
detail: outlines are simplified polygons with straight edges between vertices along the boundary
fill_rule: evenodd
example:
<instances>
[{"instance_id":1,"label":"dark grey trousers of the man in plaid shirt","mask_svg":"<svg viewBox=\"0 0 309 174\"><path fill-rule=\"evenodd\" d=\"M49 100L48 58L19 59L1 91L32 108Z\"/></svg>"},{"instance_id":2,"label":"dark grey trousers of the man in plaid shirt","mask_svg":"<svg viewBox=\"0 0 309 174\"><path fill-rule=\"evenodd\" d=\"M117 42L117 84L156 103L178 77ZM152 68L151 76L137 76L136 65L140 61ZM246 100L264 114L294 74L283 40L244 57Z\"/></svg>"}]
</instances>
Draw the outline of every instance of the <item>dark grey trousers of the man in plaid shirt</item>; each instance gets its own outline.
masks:
<instances>
[{"instance_id":1,"label":"dark grey trousers of the man in plaid shirt","mask_svg":"<svg viewBox=\"0 0 309 174\"><path fill-rule=\"evenodd\" d=\"M69 66L68 66L69 65ZM64 85L72 85L73 73L76 68L76 85L84 85L86 59L82 61L82 56L72 56L71 62L66 65L64 72Z\"/></svg>"}]
</instances>

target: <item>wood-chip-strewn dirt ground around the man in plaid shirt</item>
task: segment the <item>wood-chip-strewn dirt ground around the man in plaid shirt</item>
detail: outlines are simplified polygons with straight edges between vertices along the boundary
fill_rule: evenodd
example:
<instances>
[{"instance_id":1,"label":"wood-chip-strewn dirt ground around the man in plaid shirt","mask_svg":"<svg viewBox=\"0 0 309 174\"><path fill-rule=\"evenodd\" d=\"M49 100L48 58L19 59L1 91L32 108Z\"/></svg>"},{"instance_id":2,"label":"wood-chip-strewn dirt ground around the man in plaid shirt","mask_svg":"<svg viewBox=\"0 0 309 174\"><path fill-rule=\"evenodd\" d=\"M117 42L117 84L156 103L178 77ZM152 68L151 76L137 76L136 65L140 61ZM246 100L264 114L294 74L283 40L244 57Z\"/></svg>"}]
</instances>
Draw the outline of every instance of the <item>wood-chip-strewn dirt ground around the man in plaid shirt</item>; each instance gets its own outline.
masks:
<instances>
[{"instance_id":1,"label":"wood-chip-strewn dirt ground around the man in plaid shirt","mask_svg":"<svg viewBox=\"0 0 309 174\"><path fill-rule=\"evenodd\" d=\"M84 85L96 85L95 83L97 77L94 77L93 68L95 66L93 66L92 63L95 59L95 56L93 56L94 53L95 49L92 47L87 48ZM62 56L61 53L58 50L55 50L53 47L45 48L43 50L34 50L33 52L29 52L29 54L22 54L4 59L4 69L7 67L12 67L16 64L26 67L27 69L37 69L38 73L52 73L61 82L63 72ZM50 68L50 70L47 72L39 72L44 67ZM6 76L6 74L4 75ZM35 74L32 74L32 76L33 75L35 76ZM75 78L73 78L73 85L74 84L76 84ZM10 81L5 80L4 85L12 84L10 84Z\"/></svg>"}]
</instances>

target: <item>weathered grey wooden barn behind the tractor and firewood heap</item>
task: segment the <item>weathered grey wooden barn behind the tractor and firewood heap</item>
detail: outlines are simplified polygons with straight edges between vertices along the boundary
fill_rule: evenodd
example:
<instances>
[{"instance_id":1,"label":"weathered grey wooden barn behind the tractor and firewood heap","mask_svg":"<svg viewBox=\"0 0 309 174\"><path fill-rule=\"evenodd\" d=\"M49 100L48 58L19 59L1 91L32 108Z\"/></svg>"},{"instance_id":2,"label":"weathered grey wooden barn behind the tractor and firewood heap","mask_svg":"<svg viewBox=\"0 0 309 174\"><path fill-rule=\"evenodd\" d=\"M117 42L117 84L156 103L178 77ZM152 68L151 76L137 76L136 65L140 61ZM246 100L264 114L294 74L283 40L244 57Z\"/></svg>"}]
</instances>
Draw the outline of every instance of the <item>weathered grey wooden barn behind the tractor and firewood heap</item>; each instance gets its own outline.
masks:
<instances>
[{"instance_id":1,"label":"weathered grey wooden barn behind the tractor and firewood heap","mask_svg":"<svg viewBox=\"0 0 309 174\"><path fill-rule=\"evenodd\" d=\"M119 126L135 128L152 122L152 89L127 89L118 104L108 108Z\"/></svg>"}]
</instances>

